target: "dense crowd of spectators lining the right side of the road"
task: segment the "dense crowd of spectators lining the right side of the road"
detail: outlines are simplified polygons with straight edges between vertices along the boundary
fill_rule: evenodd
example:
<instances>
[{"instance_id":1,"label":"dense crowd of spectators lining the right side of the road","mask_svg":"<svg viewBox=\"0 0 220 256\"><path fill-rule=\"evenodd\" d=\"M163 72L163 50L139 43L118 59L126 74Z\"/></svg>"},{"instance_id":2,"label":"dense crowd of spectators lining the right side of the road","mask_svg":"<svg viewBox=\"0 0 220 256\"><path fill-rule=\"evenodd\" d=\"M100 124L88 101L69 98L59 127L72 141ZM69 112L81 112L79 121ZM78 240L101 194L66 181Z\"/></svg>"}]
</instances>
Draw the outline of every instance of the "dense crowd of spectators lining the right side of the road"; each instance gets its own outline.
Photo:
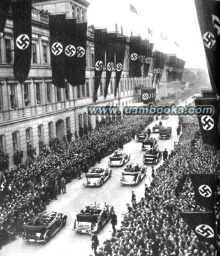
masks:
<instances>
[{"instance_id":1,"label":"dense crowd of spectators lining the right side of the road","mask_svg":"<svg viewBox=\"0 0 220 256\"><path fill-rule=\"evenodd\" d=\"M201 243L180 213L204 209L194 201L189 179L186 179L182 193L178 194L177 188L183 174L219 173L220 152L211 146L203 146L196 117L184 117L181 128L179 142L175 143L168 160L156 169L140 202L128 206L121 227L100 246L98 256L216 255L216 248L220 248L219 227L216 248ZM219 188L217 195L220 196ZM219 203L216 209L219 212Z\"/></svg>"}]
</instances>

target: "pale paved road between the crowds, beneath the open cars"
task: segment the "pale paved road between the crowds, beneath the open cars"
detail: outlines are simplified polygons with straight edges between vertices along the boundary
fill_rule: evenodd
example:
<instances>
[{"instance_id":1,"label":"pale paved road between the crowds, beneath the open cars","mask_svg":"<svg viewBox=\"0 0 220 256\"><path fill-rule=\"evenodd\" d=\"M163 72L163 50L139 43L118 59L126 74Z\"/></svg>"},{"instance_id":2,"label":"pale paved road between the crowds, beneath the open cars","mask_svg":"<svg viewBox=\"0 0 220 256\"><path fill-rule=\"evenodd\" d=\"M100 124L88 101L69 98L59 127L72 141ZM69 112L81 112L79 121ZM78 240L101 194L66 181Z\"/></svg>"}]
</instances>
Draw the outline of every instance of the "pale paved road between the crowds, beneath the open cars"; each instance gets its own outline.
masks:
<instances>
[{"instance_id":1,"label":"pale paved road between the crowds, beneath the open cars","mask_svg":"<svg viewBox=\"0 0 220 256\"><path fill-rule=\"evenodd\" d=\"M187 100L189 103L189 100ZM158 147L164 150L165 147L170 151L173 149L173 143L177 141L176 128L178 124L178 117L172 116L169 119L162 120L163 125L172 126L173 132L170 140L159 140ZM154 121L150 124L152 126L159 121ZM154 137L158 138L158 134L154 133ZM124 151L131 154L131 160L129 163L142 163L143 151L141 150L142 144L135 140L129 142L124 146ZM163 160L158 165L155 165L155 169L163 163ZM108 157L103 158L101 163L96 165L97 167L106 167L108 165ZM74 232L73 223L75 216L81 209L85 208L85 205L91 202L108 202L115 208L115 213L118 216L119 222L122 220L122 212L126 212L126 203L131 204L131 190L135 190L137 201L143 197L144 184L149 184L151 178L151 167L148 167L147 176L144 178L141 184L138 186L122 186L120 181L121 168L112 168L112 177L106 181L100 188L85 188L82 183L83 179L74 179L71 183L67 184L67 193L59 195L58 200L53 201L47 206L47 210L61 211L68 216L68 222L66 227L61 229L47 244L27 243L20 237L17 237L15 241L6 245L0 251L1 256L89 256L92 255L91 251L91 236L87 234L77 234ZM159 175L159 173L157 174ZM112 227L110 222L99 232L99 242L103 243L105 239L110 238Z\"/></svg>"}]
</instances>

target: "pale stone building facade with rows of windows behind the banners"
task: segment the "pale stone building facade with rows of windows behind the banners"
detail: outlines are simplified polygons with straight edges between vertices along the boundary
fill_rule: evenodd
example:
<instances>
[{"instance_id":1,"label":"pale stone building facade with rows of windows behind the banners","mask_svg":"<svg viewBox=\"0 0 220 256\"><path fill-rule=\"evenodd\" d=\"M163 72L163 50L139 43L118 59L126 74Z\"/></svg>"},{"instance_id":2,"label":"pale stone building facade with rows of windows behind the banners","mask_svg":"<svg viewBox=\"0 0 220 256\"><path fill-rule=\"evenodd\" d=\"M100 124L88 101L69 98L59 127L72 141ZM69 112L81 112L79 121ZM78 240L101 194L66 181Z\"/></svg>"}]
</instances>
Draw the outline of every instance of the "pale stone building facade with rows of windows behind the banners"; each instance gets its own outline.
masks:
<instances>
[{"instance_id":1,"label":"pale stone building facade with rows of windows behind the banners","mask_svg":"<svg viewBox=\"0 0 220 256\"><path fill-rule=\"evenodd\" d=\"M39 153L39 141L48 144L50 138L62 140L67 131L73 135L80 127L96 126L96 117L87 116L87 107L94 105L94 27L87 30L86 82L72 87L57 88L52 84L50 66L50 34L48 12L66 13L66 17L77 17L78 22L87 20L87 3L84 0L35 1L32 11L32 61L29 76L19 84L13 75L13 22L9 14L4 36L0 40L0 152L9 155L10 166L13 155L23 151L27 156L27 140ZM46 11L47 10L47 11ZM151 86L147 78L130 78L129 41L126 47L121 81L114 97L115 70L104 98L105 69L98 90L96 105L118 103L120 107L140 102L140 91L135 87ZM100 118L100 117L99 117Z\"/></svg>"}]
</instances>

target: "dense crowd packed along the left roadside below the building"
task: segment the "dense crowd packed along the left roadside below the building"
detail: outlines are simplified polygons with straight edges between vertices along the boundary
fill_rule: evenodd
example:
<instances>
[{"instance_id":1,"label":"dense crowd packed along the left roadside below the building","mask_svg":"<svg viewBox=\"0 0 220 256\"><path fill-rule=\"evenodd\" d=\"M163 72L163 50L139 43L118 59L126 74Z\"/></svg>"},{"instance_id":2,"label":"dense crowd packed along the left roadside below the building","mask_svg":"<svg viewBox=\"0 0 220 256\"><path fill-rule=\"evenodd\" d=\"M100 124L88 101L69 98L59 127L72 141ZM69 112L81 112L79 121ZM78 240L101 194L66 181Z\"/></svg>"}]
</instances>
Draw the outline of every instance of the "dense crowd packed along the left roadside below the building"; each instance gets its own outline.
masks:
<instances>
[{"instance_id":1,"label":"dense crowd packed along the left roadside below the building","mask_svg":"<svg viewBox=\"0 0 220 256\"><path fill-rule=\"evenodd\" d=\"M151 121L126 117L101 124L71 144L56 139L49 147L41 143L38 158L5 170L0 183L0 236L3 231L21 234L23 223L46 209L57 194L66 193L67 182L134 139Z\"/></svg>"}]
</instances>

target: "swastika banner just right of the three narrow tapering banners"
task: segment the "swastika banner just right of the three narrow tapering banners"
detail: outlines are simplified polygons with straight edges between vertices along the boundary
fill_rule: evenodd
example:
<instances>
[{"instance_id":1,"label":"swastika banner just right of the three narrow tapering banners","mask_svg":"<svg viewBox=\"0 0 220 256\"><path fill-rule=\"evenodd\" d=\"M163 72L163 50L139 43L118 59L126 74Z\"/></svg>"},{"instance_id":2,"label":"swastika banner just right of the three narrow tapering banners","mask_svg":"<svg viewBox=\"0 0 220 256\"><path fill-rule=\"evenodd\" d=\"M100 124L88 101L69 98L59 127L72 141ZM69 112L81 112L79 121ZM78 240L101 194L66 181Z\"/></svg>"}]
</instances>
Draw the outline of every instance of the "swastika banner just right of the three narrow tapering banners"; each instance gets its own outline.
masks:
<instances>
[{"instance_id":1,"label":"swastika banner just right of the three narrow tapering banners","mask_svg":"<svg viewBox=\"0 0 220 256\"><path fill-rule=\"evenodd\" d=\"M130 38L129 77L138 77L140 75L140 41L140 36L131 36Z\"/></svg>"}]
</instances>

